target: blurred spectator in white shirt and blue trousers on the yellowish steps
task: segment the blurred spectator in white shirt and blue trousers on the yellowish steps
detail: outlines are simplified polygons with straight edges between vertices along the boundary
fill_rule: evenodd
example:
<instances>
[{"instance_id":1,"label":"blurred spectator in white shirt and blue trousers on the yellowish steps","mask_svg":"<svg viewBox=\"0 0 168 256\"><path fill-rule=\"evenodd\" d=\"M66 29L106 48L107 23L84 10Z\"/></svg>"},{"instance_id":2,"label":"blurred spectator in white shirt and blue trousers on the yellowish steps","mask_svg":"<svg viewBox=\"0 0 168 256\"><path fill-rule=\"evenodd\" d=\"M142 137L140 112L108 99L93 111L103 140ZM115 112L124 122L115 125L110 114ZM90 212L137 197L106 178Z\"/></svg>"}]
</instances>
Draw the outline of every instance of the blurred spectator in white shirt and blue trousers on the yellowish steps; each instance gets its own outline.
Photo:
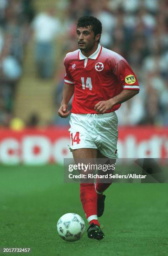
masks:
<instances>
[{"instance_id":1,"label":"blurred spectator in white shirt and blue trousers on the yellowish steps","mask_svg":"<svg viewBox=\"0 0 168 256\"><path fill-rule=\"evenodd\" d=\"M51 78L54 73L54 39L60 23L54 17L54 9L38 14L32 22L35 34L35 61L41 78Z\"/></svg>"}]
</instances>

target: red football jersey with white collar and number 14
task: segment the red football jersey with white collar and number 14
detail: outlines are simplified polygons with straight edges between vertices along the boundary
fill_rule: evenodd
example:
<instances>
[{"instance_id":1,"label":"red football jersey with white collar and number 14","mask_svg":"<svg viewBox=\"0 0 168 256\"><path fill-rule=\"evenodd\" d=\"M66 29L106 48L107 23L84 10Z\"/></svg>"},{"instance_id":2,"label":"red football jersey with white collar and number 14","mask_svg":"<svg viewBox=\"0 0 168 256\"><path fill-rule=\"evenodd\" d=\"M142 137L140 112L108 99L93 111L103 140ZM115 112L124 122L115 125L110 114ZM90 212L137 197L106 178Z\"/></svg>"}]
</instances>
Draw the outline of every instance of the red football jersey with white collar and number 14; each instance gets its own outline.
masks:
<instances>
[{"instance_id":1,"label":"red football jersey with white collar and number 14","mask_svg":"<svg viewBox=\"0 0 168 256\"><path fill-rule=\"evenodd\" d=\"M102 46L88 58L81 50L69 52L64 59L64 82L74 86L72 113L94 114L94 106L109 100L123 89L139 90L136 75L128 62L119 54ZM115 105L106 113L117 110Z\"/></svg>"}]
</instances>

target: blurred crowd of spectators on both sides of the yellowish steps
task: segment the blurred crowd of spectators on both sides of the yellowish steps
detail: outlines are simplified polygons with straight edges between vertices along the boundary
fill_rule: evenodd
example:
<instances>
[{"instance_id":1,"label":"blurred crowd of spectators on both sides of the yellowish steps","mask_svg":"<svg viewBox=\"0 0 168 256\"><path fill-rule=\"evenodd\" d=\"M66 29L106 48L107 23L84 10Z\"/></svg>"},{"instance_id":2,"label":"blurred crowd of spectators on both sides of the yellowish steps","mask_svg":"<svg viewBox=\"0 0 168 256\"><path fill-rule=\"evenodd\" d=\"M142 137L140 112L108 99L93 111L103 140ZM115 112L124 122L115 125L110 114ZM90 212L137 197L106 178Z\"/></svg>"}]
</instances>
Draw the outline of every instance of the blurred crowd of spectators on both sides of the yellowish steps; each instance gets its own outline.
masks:
<instances>
[{"instance_id":1,"label":"blurred crowd of spectators on both sides of the yellowish steps","mask_svg":"<svg viewBox=\"0 0 168 256\"><path fill-rule=\"evenodd\" d=\"M35 33L37 74L52 79L57 49L53 38L62 36L62 56L76 50L76 23L84 15L101 21L101 45L124 56L138 77L140 93L117 110L119 125L168 125L167 0L60 0L53 1L53 9L36 15L31 2L0 0L0 125L5 125L6 113L12 113L30 31ZM64 68L59 64L54 79L56 109L64 84ZM68 125L68 121L55 115L51 123Z\"/></svg>"}]
</instances>

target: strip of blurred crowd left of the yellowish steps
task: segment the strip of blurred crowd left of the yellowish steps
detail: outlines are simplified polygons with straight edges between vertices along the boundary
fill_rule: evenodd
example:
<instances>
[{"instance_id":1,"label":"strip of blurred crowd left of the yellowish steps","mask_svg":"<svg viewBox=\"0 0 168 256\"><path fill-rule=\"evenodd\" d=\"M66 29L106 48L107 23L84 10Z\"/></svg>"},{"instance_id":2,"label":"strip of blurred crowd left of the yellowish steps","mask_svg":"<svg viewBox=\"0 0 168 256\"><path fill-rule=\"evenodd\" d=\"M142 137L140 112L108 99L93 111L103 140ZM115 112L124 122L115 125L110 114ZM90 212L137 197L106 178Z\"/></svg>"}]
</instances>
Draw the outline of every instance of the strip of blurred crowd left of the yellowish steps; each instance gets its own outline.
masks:
<instances>
[{"instance_id":1,"label":"strip of blurred crowd left of the yellowish steps","mask_svg":"<svg viewBox=\"0 0 168 256\"><path fill-rule=\"evenodd\" d=\"M0 0L0 126L12 118L33 17L30 0Z\"/></svg>"}]
</instances>

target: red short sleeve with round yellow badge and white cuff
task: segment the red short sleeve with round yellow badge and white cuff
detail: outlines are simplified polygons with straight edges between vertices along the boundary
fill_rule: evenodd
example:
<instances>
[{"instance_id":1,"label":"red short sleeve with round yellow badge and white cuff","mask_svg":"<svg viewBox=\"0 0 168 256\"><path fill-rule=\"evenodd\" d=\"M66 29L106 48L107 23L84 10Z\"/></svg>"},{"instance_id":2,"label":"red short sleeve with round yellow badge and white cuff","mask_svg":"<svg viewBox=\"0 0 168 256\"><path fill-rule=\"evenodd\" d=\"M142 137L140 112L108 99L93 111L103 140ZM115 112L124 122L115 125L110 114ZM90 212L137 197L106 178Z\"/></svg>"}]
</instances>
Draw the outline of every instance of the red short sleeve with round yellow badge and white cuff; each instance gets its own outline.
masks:
<instances>
[{"instance_id":1,"label":"red short sleeve with round yellow badge and white cuff","mask_svg":"<svg viewBox=\"0 0 168 256\"><path fill-rule=\"evenodd\" d=\"M120 59L114 67L113 73L123 84L123 89L139 90L138 80L128 62L123 58Z\"/></svg>"}]
</instances>

